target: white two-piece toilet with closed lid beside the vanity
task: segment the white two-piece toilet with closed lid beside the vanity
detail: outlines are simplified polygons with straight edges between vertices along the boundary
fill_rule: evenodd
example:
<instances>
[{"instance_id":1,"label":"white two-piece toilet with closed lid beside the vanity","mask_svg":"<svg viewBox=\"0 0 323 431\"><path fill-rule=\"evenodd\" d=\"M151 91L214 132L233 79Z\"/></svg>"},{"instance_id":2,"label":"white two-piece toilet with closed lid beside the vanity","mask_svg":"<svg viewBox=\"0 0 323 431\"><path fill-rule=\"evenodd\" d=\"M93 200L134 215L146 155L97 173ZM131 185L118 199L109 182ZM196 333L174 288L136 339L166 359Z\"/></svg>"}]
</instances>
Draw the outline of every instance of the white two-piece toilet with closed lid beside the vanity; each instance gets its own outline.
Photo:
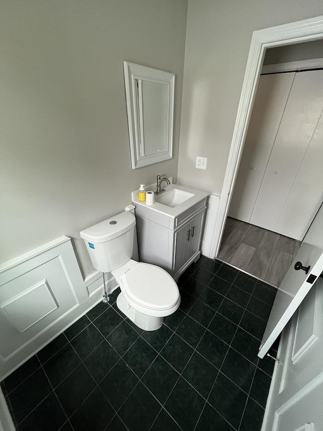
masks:
<instances>
[{"instance_id":1,"label":"white two-piece toilet with closed lid beside the vanity","mask_svg":"<svg viewBox=\"0 0 323 431\"><path fill-rule=\"evenodd\" d=\"M92 264L120 285L118 308L139 328L153 331L181 302L175 280L162 268L132 260L136 218L125 211L80 232Z\"/></svg>"}]
</instances>

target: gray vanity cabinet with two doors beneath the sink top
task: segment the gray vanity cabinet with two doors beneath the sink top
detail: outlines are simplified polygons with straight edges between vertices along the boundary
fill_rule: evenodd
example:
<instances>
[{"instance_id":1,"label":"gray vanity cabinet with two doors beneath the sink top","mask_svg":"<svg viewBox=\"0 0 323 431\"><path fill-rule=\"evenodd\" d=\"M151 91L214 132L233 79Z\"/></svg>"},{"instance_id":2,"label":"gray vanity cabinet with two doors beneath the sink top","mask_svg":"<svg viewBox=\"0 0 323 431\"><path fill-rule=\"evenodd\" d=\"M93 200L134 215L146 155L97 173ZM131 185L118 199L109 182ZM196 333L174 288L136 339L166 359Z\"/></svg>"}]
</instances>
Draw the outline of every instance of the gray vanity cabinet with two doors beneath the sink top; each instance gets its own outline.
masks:
<instances>
[{"instance_id":1,"label":"gray vanity cabinet with two doors beneath the sink top","mask_svg":"<svg viewBox=\"0 0 323 431\"><path fill-rule=\"evenodd\" d=\"M134 202L140 261L166 269L177 280L200 256L206 196L177 216Z\"/></svg>"}]
</instances>

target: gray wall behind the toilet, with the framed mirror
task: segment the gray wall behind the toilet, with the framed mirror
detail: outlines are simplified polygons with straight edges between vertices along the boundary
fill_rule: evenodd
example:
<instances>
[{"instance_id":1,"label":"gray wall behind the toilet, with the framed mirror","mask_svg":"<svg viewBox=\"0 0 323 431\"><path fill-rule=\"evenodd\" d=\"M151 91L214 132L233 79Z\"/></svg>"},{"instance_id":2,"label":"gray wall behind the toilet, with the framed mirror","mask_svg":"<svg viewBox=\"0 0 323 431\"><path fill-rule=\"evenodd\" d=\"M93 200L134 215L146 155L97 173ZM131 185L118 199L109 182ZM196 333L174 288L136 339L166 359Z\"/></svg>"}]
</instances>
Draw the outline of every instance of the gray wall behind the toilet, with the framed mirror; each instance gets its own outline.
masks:
<instances>
[{"instance_id":1,"label":"gray wall behind the toilet, with the framed mirror","mask_svg":"<svg viewBox=\"0 0 323 431\"><path fill-rule=\"evenodd\" d=\"M178 165L186 0L11 0L0 17L1 261L124 210ZM176 74L174 158L132 170L123 61Z\"/></svg>"}]
</instances>

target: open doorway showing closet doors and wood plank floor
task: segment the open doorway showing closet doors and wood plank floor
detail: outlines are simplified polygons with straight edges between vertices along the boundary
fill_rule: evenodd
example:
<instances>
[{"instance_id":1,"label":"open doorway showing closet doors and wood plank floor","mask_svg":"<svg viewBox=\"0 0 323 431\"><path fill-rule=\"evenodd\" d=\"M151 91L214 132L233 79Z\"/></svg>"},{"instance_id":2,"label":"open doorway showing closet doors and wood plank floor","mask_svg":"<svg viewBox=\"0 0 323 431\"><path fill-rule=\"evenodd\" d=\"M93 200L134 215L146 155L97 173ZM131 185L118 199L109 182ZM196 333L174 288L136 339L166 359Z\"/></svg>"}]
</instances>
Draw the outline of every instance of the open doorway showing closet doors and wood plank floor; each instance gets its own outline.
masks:
<instances>
[{"instance_id":1,"label":"open doorway showing closet doors and wood plank floor","mask_svg":"<svg viewBox=\"0 0 323 431\"><path fill-rule=\"evenodd\" d=\"M275 286L323 196L322 46L318 40L266 53L218 255Z\"/></svg>"}]
</instances>

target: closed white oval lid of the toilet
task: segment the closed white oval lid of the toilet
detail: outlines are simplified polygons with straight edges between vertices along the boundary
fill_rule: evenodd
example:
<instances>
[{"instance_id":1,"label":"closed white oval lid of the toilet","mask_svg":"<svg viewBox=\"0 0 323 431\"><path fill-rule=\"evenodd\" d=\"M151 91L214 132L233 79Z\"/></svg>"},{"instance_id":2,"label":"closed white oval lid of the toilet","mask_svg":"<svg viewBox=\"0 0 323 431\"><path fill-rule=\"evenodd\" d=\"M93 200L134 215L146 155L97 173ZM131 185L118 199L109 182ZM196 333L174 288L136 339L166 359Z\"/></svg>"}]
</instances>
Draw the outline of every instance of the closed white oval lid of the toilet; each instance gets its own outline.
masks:
<instances>
[{"instance_id":1,"label":"closed white oval lid of the toilet","mask_svg":"<svg viewBox=\"0 0 323 431\"><path fill-rule=\"evenodd\" d=\"M123 276L127 295L150 308L172 307L179 298L176 282L164 269L138 263Z\"/></svg>"}]
</instances>

